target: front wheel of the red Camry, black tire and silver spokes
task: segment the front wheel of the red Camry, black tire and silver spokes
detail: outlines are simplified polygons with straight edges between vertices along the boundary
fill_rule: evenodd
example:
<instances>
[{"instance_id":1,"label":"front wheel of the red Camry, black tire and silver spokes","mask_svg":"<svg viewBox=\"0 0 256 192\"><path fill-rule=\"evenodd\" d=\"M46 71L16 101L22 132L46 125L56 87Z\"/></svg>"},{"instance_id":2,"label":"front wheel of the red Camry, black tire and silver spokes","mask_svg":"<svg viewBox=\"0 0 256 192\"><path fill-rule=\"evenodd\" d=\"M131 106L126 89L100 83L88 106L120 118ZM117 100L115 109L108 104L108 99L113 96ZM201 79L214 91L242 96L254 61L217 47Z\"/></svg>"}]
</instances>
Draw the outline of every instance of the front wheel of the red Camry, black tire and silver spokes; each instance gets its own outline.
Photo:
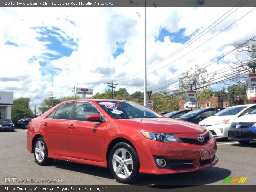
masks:
<instances>
[{"instance_id":1,"label":"front wheel of the red Camry, black tire and silver spokes","mask_svg":"<svg viewBox=\"0 0 256 192\"><path fill-rule=\"evenodd\" d=\"M122 156L122 153L125 155ZM116 158L113 160L114 155L115 157L118 156L120 161L117 161ZM117 143L110 152L109 167L117 182L125 184L134 182L139 177L140 168L139 157L136 150L128 143ZM116 174L114 169L116 172L119 170L119 174Z\"/></svg>"}]
</instances>

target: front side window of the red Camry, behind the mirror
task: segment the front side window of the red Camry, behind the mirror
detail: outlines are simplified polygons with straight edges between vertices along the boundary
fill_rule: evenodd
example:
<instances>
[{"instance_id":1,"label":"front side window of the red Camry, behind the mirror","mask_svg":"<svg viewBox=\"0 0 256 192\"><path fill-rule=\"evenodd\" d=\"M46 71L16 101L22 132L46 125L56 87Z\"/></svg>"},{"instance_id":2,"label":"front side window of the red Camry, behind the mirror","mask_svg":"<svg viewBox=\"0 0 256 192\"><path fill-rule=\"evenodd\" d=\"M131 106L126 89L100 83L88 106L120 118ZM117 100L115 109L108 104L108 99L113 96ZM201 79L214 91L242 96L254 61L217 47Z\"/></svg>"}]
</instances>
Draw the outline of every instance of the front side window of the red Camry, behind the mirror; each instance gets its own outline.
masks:
<instances>
[{"instance_id":1,"label":"front side window of the red Camry, behind the mirror","mask_svg":"<svg viewBox=\"0 0 256 192\"><path fill-rule=\"evenodd\" d=\"M73 120L87 121L86 117L91 114L100 114L98 109L88 102L78 102L74 113Z\"/></svg>"}]
</instances>

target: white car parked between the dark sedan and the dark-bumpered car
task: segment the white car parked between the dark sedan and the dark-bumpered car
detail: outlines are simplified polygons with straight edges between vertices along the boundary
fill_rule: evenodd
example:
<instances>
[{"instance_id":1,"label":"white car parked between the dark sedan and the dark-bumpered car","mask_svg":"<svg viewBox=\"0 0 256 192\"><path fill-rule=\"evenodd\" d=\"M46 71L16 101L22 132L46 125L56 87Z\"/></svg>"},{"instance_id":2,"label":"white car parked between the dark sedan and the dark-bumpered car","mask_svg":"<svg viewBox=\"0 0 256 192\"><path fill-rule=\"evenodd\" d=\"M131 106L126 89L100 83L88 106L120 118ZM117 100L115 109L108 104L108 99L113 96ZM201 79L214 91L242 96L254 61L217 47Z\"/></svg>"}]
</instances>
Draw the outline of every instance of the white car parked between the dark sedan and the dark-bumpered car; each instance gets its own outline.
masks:
<instances>
[{"instance_id":1,"label":"white car parked between the dark sedan and the dark-bumpered car","mask_svg":"<svg viewBox=\"0 0 256 192\"><path fill-rule=\"evenodd\" d=\"M210 130L215 137L228 137L228 127L230 123L238 117L256 109L256 104L236 105L215 113L199 122L199 125Z\"/></svg>"}]
</instances>

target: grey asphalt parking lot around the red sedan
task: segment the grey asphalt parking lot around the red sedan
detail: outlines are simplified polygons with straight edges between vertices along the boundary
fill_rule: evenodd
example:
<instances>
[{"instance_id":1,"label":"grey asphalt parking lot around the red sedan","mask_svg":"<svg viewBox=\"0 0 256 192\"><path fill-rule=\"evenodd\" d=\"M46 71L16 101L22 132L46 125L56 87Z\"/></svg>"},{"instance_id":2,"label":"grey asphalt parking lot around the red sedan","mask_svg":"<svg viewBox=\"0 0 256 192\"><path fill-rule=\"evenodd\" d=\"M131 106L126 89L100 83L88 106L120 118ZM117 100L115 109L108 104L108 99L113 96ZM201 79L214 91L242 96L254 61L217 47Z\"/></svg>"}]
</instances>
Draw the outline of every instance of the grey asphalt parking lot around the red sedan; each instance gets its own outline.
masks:
<instances>
[{"instance_id":1,"label":"grey asphalt parking lot around the red sedan","mask_svg":"<svg viewBox=\"0 0 256 192\"><path fill-rule=\"evenodd\" d=\"M33 154L26 149L26 136L27 130L24 129L0 132L0 185L123 185L117 183L106 168L60 160L54 160L49 166L38 166ZM226 177L248 177L245 184L255 185L256 142L241 145L217 138L217 145L219 162L214 167L172 175L141 175L134 184L225 185L223 180ZM18 179L29 179L30 183L18 182ZM31 183L32 180L35 183Z\"/></svg>"}]
</instances>

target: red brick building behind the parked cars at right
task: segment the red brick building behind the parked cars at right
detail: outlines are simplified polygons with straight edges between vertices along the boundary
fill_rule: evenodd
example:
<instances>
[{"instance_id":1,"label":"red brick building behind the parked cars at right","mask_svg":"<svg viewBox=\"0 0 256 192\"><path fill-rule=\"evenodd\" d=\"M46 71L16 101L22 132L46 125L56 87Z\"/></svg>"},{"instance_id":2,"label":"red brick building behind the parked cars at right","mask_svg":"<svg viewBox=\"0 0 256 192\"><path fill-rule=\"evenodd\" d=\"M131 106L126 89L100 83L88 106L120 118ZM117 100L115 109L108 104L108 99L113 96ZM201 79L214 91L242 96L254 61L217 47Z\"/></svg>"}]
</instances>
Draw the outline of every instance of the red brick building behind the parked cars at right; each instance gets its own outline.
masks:
<instances>
[{"instance_id":1,"label":"red brick building behind the parked cars at right","mask_svg":"<svg viewBox=\"0 0 256 192\"><path fill-rule=\"evenodd\" d=\"M179 110L184 110L188 108L184 108L185 100L179 101ZM203 105L200 108L211 108L211 107L229 107L228 98L227 97L210 97L206 99ZM194 108L197 109L197 108Z\"/></svg>"}]
</instances>

